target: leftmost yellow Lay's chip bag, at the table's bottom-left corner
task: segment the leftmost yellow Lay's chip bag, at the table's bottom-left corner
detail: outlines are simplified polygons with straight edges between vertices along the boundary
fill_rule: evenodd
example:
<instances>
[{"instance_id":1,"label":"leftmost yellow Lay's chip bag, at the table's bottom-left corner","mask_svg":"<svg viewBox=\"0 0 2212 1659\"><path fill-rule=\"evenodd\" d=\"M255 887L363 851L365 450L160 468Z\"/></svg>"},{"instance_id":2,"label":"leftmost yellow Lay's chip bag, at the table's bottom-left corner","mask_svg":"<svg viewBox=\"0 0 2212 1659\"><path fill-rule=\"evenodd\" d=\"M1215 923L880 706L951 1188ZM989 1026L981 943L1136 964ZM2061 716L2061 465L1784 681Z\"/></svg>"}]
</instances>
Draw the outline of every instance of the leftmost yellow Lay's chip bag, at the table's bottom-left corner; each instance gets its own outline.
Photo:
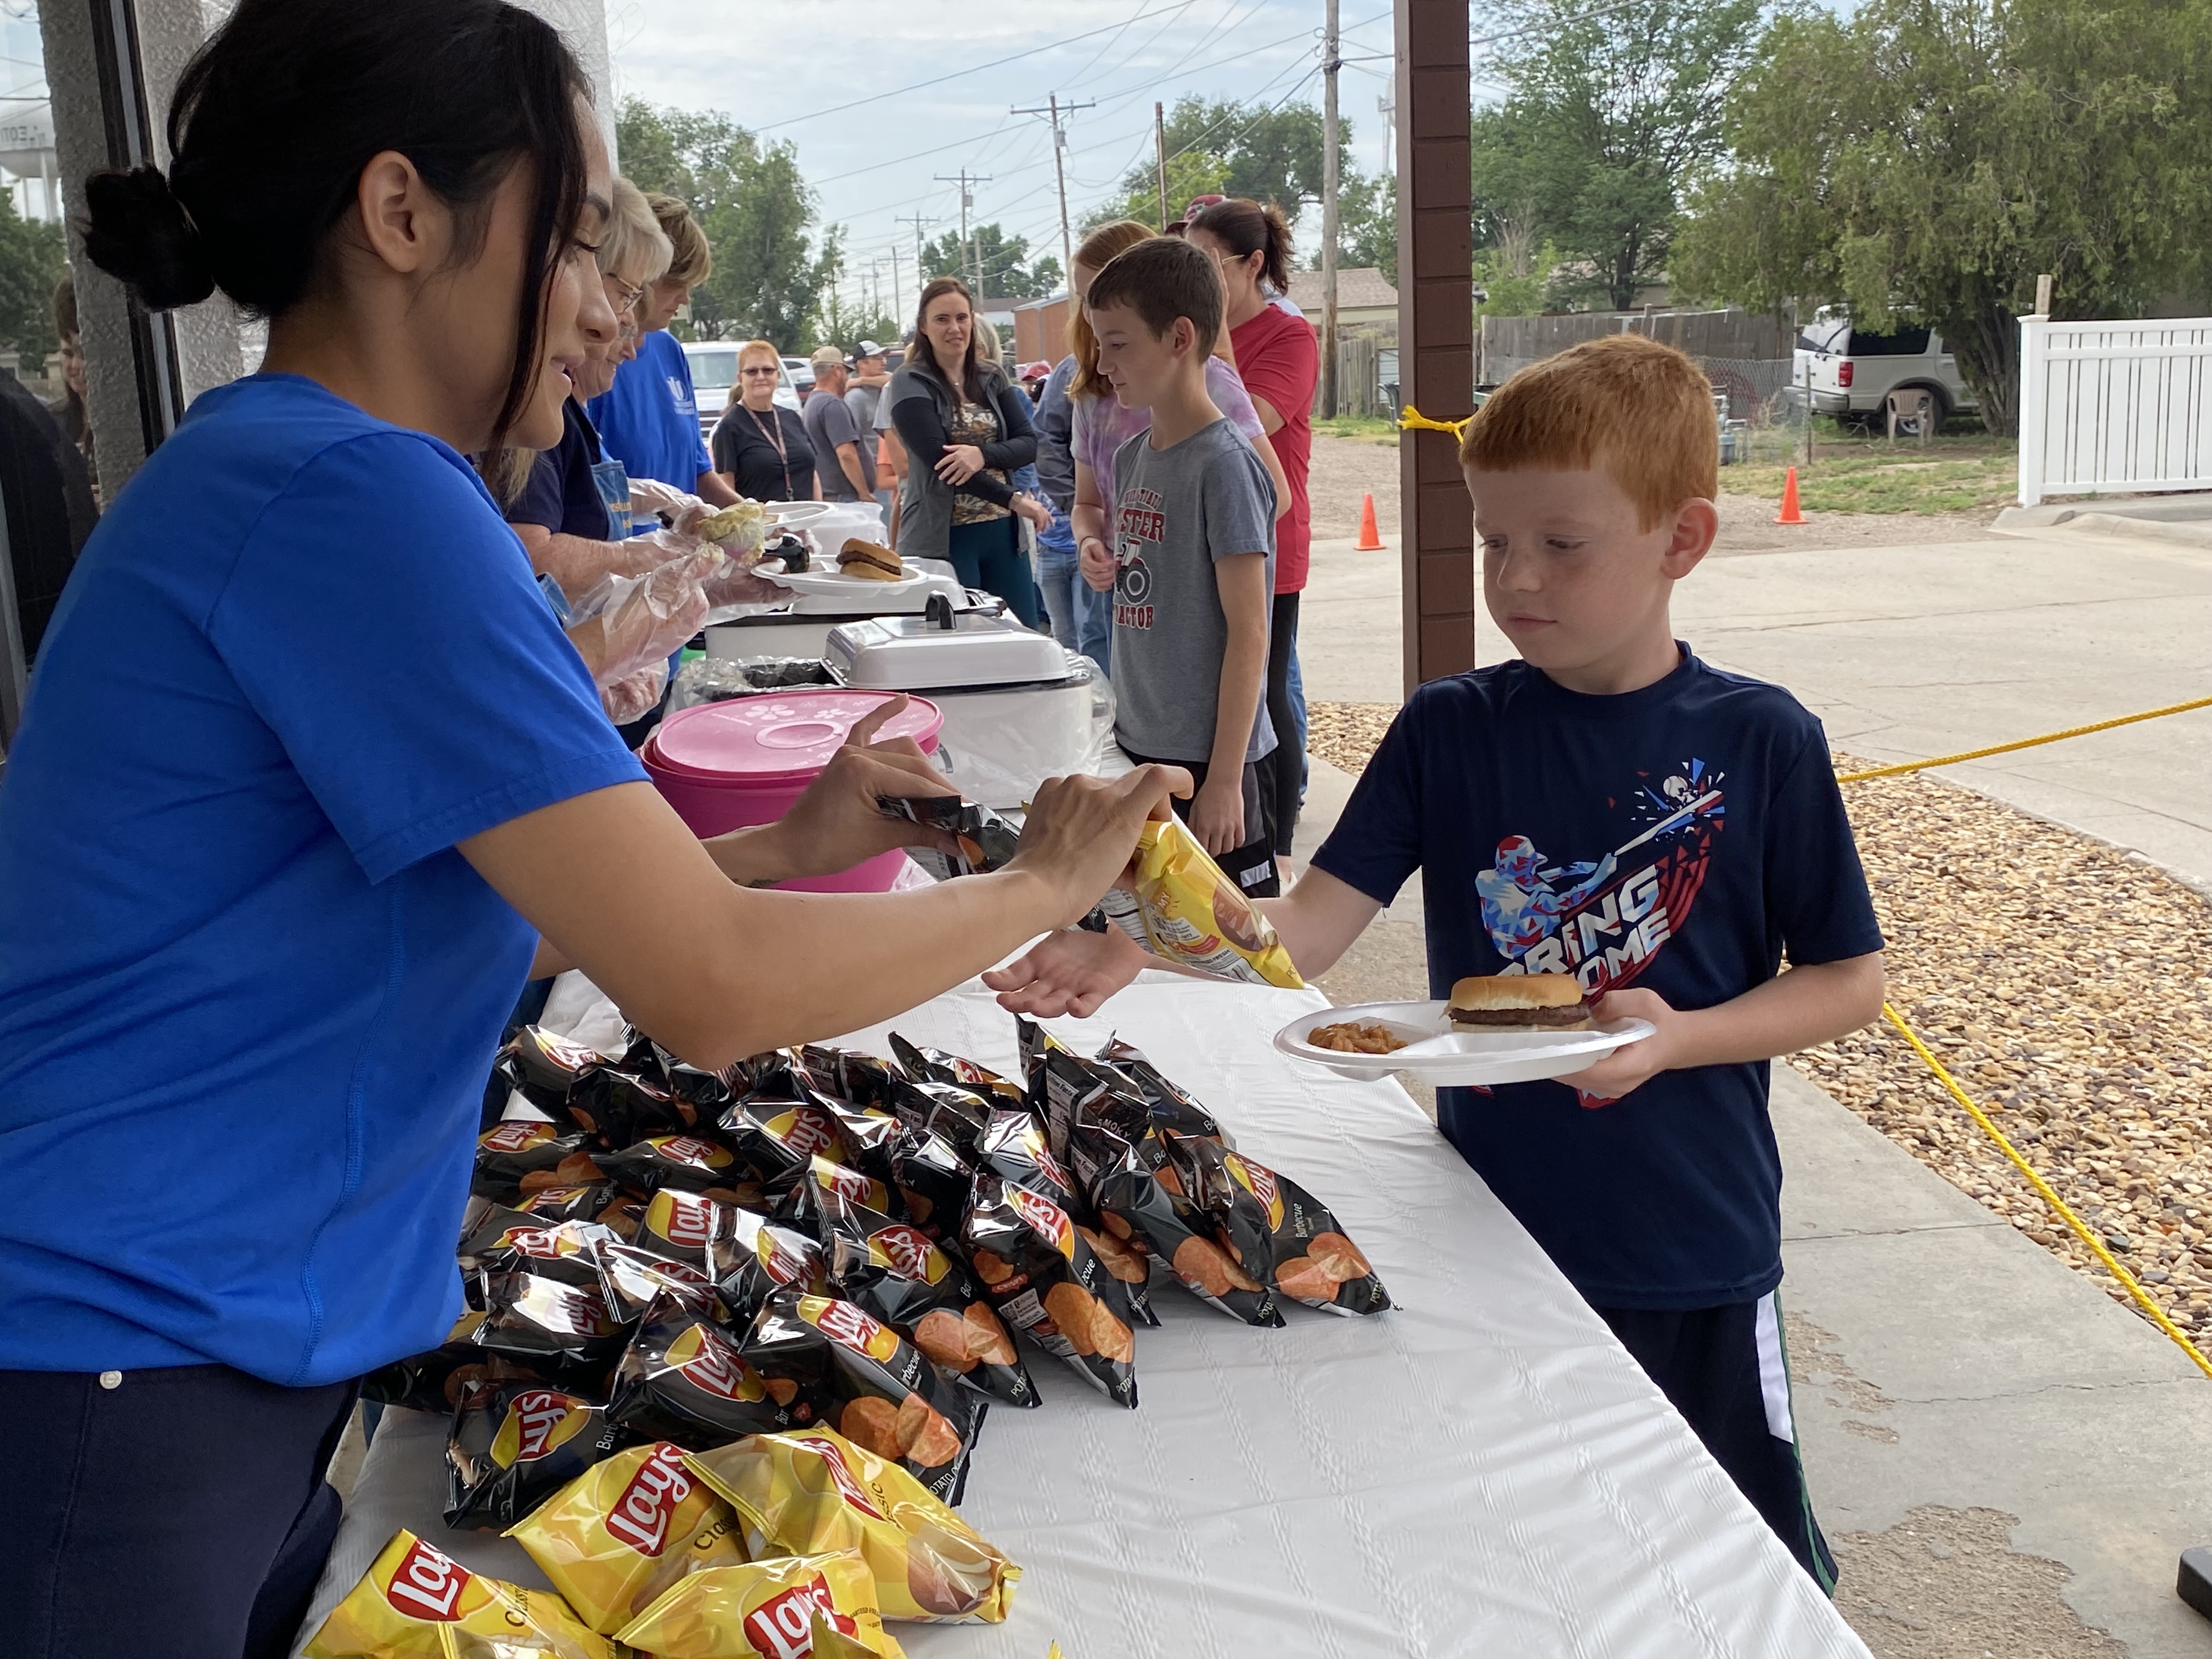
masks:
<instances>
[{"instance_id":1,"label":"leftmost yellow Lay's chip bag, at the table's bottom-left corner","mask_svg":"<svg viewBox=\"0 0 2212 1659\"><path fill-rule=\"evenodd\" d=\"M471 1573L400 1528L305 1659L615 1659L566 1601Z\"/></svg>"}]
</instances>

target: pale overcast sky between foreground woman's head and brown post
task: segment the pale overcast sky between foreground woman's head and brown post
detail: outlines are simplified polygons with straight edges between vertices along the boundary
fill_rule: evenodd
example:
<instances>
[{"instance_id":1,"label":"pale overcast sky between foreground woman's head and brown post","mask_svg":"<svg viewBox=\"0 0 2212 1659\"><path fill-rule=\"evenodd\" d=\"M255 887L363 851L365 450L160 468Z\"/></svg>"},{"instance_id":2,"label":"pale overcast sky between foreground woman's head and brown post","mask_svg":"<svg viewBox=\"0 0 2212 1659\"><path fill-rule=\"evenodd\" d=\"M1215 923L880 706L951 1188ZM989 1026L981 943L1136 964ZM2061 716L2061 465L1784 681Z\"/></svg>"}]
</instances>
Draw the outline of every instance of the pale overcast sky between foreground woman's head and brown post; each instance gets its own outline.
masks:
<instances>
[{"instance_id":1,"label":"pale overcast sky between foreground woman's head and brown post","mask_svg":"<svg viewBox=\"0 0 2212 1659\"><path fill-rule=\"evenodd\" d=\"M911 301L914 226L900 215L922 215L925 237L956 228L960 186L936 175L962 166L989 175L975 221L1057 254L1051 128L1013 104L1097 102L1068 117L1071 223L1150 161L1152 100L1321 104L1321 0L608 0L606 11L619 95L728 111L799 148L823 223L847 228L849 299L878 263L889 288L896 243ZM1340 18L1347 60L1383 58L1347 62L1338 82L1349 161L1376 173L1389 4L1340 0Z\"/></svg>"}]
</instances>

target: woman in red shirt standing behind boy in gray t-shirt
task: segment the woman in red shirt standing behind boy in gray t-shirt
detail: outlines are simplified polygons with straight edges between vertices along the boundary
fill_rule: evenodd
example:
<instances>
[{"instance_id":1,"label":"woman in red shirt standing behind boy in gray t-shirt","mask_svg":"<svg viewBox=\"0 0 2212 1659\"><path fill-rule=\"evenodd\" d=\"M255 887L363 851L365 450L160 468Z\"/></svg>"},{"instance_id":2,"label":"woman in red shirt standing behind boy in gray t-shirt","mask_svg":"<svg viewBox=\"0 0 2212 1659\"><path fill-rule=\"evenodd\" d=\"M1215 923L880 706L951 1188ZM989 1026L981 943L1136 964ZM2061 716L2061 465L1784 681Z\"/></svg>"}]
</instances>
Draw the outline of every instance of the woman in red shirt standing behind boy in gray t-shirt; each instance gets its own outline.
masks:
<instances>
[{"instance_id":1,"label":"woman in red shirt standing behind boy in gray t-shirt","mask_svg":"<svg viewBox=\"0 0 2212 1659\"><path fill-rule=\"evenodd\" d=\"M1274 522L1274 617L1267 628L1267 719L1274 752L1259 763L1261 805L1274 834L1274 856L1290 856L1305 781L1305 732L1290 706L1290 664L1298 650L1298 593L1312 546L1305 473L1314 458L1314 380L1321 352L1305 319L1272 303L1290 292L1290 223L1272 201L1245 197L1201 208L1183 232L1221 265L1228 288L1230 349L1261 427L1290 478L1290 511ZM1272 290L1272 292L1270 292Z\"/></svg>"}]
</instances>

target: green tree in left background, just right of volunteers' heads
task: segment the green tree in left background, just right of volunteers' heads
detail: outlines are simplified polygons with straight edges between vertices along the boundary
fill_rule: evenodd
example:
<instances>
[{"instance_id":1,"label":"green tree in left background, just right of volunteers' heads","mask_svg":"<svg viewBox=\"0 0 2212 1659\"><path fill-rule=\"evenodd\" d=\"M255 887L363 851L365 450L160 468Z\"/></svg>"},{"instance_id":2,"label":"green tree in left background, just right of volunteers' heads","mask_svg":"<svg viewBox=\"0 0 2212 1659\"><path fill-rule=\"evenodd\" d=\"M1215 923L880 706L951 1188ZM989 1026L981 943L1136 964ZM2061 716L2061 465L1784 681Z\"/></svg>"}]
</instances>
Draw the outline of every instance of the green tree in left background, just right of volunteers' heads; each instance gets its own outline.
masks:
<instances>
[{"instance_id":1,"label":"green tree in left background, just right of volunteers' heads","mask_svg":"<svg viewBox=\"0 0 2212 1659\"><path fill-rule=\"evenodd\" d=\"M843 250L836 230L807 243L814 190L799 173L799 153L761 144L719 111L657 108L639 97L624 100L615 135L624 175L690 204L714 250L714 272L692 290L692 332L787 347L807 338Z\"/></svg>"}]
</instances>

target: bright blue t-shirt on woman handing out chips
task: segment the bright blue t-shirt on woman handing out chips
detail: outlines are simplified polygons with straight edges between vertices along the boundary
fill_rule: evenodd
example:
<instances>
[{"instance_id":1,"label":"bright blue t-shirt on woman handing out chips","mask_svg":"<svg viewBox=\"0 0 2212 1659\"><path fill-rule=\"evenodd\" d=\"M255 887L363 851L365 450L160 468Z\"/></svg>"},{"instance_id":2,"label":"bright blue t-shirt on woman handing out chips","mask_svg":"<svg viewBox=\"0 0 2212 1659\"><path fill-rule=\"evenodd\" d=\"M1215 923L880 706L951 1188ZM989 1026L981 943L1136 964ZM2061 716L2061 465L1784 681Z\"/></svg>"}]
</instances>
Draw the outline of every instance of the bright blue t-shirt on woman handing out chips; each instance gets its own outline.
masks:
<instances>
[{"instance_id":1,"label":"bright blue t-shirt on woman handing out chips","mask_svg":"<svg viewBox=\"0 0 2212 1659\"><path fill-rule=\"evenodd\" d=\"M641 776L460 456L296 376L201 396L0 774L0 1369L440 1343L535 947L453 847Z\"/></svg>"}]
</instances>

